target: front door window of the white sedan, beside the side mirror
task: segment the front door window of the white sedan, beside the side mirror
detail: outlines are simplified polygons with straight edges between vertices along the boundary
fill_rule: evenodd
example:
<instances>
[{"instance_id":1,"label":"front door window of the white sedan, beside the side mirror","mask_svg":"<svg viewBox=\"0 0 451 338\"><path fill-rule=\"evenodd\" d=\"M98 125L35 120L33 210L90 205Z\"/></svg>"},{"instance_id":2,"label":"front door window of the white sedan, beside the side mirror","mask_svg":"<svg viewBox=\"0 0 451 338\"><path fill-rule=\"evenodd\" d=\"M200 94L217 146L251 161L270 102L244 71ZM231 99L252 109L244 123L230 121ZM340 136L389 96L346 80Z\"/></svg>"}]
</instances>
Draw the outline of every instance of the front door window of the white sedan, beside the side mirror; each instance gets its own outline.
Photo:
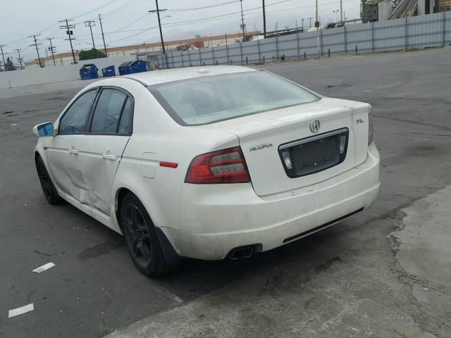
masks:
<instances>
[{"instance_id":1,"label":"front door window of the white sedan, beside the side mirror","mask_svg":"<svg viewBox=\"0 0 451 338\"><path fill-rule=\"evenodd\" d=\"M59 122L58 134L87 132L87 118L96 94L97 90L90 90L73 102Z\"/></svg>"}]
</instances>

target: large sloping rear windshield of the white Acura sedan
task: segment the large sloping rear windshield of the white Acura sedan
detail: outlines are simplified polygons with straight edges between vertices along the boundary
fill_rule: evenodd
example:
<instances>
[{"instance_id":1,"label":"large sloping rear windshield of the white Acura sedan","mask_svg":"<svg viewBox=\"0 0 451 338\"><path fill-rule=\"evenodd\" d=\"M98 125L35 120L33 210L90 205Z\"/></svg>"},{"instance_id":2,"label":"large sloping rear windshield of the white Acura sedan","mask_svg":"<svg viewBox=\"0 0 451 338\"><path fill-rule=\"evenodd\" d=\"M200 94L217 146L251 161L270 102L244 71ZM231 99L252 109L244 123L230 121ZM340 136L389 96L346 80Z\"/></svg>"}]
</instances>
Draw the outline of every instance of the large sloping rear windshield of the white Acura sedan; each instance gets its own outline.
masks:
<instances>
[{"instance_id":1,"label":"large sloping rear windshield of the white Acura sedan","mask_svg":"<svg viewBox=\"0 0 451 338\"><path fill-rule=\"evenodd\" d=\"M319 100L263 71L197 77L148 87L180 125L204 125Z\"/></svg>"}]
</instances>

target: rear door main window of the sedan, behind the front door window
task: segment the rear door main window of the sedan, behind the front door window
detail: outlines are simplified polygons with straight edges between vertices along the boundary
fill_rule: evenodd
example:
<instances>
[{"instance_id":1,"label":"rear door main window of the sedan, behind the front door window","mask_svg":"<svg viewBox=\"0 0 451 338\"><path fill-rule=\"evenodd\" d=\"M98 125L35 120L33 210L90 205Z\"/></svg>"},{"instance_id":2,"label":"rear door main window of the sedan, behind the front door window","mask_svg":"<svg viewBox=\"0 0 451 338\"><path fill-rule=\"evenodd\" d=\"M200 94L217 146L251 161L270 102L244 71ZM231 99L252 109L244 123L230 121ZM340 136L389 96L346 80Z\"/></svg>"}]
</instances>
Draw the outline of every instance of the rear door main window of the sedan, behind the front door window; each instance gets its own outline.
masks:
<instances>
[{"instance_id":1,"label":"rear door main window of the sedan, behind the front door window","mask_svg":"<svg viewBox=\"0 0 451 338\"><path fill-rule=\"evenodd\" d=\"M103 89L92 117L91 132L116 133L127 95L116 89Z\"/></svg>"}]
</instances>

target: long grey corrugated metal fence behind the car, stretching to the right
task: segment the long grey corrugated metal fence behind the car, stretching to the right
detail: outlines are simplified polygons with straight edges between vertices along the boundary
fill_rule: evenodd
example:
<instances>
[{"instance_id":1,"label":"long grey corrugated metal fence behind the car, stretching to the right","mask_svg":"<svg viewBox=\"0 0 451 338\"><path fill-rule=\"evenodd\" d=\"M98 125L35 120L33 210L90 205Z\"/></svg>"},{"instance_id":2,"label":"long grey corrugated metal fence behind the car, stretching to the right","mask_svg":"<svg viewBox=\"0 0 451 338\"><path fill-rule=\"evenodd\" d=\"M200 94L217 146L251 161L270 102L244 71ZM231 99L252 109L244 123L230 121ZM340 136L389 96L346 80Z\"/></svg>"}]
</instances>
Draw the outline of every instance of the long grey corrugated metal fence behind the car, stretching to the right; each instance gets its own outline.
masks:
<instances>
[{"instance_id":1,"label":"long grey corrugated metal fence behind the car, stretching to the right","mask_svg":"<svg viewBox=\"0 0 451 338\"><path fill-rule=\"evenodd\" d=\"M321 30L319 46L321 56L326 56L421 49L450 42L451 12L443 12ZM157 61L160 68L260 63L283 56L311 58L317 56L316 46L316 32L307 32L192 51L168 51L166 62L162 54Z\"/></svg>"}]
</instances>

